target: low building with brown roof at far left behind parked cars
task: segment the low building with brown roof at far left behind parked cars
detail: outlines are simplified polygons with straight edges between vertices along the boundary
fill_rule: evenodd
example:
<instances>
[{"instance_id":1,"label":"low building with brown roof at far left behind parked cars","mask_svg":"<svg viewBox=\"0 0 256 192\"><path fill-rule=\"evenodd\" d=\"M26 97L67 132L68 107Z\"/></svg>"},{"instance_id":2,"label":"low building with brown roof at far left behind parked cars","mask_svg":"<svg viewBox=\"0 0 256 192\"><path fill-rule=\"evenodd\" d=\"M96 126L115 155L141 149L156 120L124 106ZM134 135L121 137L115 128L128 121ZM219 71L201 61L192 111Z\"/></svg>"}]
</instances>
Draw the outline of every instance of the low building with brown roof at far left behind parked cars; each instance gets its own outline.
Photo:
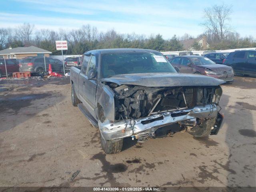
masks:
<instances>
[{"instance_id":1,"label":"low building with brown roof at far left behind parked cars","mask_svg":"<svg viewBox=\"0 0 256 192\"><path fill-rule=\"evenodd\" d=\"M16 47L16 48L8 48L0 51L0 57L1 58L16 58L16 59L22 59L24 57L29 56L50 56L52 52L35 47L35 46L29 46L29 47Z\"/></svg>"}]
</instances>

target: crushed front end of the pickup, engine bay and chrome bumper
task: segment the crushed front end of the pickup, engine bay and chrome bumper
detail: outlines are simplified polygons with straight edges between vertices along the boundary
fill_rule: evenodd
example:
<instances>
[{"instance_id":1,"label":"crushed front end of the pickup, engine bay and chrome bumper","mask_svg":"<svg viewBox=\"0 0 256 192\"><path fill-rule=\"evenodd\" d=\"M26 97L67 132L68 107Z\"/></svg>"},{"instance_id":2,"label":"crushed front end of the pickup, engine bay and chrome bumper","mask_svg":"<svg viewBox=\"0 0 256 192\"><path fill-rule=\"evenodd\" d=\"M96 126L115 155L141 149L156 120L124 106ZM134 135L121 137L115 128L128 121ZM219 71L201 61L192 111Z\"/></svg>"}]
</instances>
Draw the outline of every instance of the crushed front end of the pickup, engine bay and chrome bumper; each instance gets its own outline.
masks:
<instances>
[{"instance_id":1,"label":"crushed front end of the pickup, engine bay and chrome bumper","mask_svg":"<svg viewBox=\"0 0 256 192\"><path fill-rule=\"evenodd\" d=\"M196 137L218 133L220 86L108 86L115 95L115 121L98 122L105 140L132 137L144 142L180 131Z\"/></svg>"}]
</instances>

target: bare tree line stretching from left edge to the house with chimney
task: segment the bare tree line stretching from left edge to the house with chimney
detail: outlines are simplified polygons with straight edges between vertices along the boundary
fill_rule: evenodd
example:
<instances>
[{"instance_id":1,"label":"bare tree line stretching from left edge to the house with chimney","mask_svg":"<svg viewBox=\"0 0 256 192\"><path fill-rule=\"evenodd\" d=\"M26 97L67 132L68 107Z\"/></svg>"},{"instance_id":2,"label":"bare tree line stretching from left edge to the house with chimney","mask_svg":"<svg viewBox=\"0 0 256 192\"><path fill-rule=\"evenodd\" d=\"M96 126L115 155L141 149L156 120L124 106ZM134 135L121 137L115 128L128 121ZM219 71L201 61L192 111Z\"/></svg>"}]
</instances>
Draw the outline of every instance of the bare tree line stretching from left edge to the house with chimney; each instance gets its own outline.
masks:
<instances>
[{"instance_id":1,"label":"bare tree line stretching from left edge to the house with chimney","mask_svg":"<svg viewBox=\"0 0 256 192\"><path fill-rule=\"evenodd\" d=\"M15 29L0 28L0 50L34 45L51 51L52 54L61 54L61 51L56 50L56 40L68 41L68 50L65 54L82 54L88 50L104 48L145 48L159 51L179 51L183 48L176 35L164 40L160 34L146 37L135 33L120 34L114 29L98 32L96 27L89 24L79 29L58 31L36 30L34 25L29 23Z\"/></svg>"}]
</instances>

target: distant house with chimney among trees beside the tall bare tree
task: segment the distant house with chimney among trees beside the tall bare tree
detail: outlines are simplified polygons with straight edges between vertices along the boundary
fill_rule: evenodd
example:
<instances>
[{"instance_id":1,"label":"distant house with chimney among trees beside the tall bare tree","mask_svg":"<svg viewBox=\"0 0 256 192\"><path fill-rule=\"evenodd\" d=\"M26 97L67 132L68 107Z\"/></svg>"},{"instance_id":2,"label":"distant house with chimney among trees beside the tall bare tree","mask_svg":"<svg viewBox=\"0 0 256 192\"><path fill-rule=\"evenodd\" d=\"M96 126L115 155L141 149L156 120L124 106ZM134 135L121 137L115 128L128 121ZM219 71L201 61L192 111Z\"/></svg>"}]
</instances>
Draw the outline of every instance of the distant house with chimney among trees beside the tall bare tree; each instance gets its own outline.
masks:
<instances>
[{"instance_id":1,"label":"distant house with chimney among trees beside the tall bare tree","mask_svg":"<svg viewBox=\"0 0 256 192\"><path fill-rule=\"evenodd\" d=\"M198 43L198 45L201 48L200 50L207 50L207 48L209 47L209 44L207 42L207 36L205 35L200 38L181 41L181 43L183 44L183 49L190 50L190 51L194 51L194 48L193 48L194 42Z\"/></svg>"}]
</instances>

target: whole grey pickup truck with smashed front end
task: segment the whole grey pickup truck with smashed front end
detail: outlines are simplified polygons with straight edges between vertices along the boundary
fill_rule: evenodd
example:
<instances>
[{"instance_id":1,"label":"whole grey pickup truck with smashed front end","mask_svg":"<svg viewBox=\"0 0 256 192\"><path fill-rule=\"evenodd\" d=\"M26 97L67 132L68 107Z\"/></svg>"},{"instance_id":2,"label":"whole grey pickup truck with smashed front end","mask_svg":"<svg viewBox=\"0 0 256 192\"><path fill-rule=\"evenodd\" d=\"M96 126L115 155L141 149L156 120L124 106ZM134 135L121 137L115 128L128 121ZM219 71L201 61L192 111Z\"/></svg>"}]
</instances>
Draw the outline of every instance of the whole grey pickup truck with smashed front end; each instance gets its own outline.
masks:
<instances>
[{"instance_id":1,"label":"whole grey pickup truck with smashed front end","mask_svg":"<svg viewBox=\"0 0 256 192\"><path fill-rule=\"evenodd\" d=\"M222 80L177 73L155 50L92 50L81 64L70 70L72 104L99 128L108 154L120 152L126 137L204 137L220 129Z\"/></svg>"}]
</instances>

